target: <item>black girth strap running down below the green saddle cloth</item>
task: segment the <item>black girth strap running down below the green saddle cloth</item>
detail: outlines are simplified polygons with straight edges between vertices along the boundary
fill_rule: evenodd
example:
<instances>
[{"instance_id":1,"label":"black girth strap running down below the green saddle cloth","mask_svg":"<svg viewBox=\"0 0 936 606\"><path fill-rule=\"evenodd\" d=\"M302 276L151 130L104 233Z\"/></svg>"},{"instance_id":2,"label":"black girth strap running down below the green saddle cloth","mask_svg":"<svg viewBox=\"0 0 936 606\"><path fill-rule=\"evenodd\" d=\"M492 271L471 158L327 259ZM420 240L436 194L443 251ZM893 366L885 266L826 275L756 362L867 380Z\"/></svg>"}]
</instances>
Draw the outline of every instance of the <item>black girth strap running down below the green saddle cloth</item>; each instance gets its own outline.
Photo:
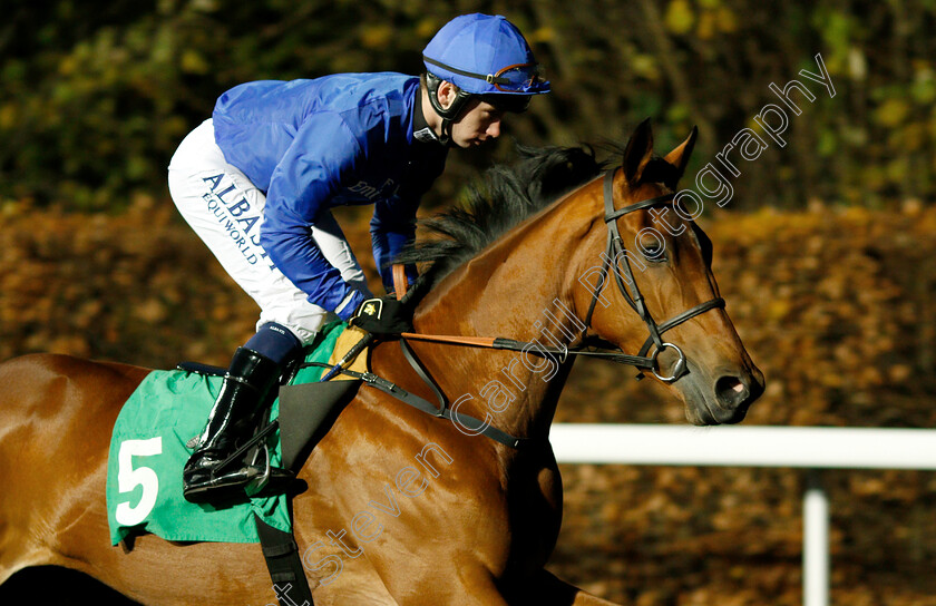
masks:
<instances>
[{"instance_id":1,"label":"black girth strap running down below the green saddle cloth","mask_svg":"<svg viewBox=\"0 0 936 606\"><path fill-rule=\"evenodd\" d=\"M254 521L280 606L314 606L293 534L270 526L256 514Z\"/></svg>"}]
</instances>

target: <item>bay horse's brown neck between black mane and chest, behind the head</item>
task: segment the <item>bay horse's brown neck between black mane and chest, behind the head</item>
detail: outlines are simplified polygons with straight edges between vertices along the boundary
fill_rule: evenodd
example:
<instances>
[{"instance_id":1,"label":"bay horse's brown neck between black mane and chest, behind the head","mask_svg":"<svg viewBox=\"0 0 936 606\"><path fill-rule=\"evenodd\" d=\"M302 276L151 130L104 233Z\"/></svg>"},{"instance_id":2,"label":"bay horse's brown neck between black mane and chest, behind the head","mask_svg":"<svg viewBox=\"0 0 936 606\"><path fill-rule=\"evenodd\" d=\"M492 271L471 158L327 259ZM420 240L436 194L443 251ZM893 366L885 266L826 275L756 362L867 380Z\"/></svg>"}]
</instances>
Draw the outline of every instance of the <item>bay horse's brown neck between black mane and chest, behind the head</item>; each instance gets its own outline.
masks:
<instances>
[{"instance_id":1,"label":"bay horse's brown neck between black mane and chest, behind the head","mask_svg":"<svg viewBox=\"0 0 936 606\"><path fill-rule=\"evenodd\" d=\"M503 336L533 343L532 351L577 339L584 313L574 304L576 272L585 248L597 242L593 227L599 221L597 203L582 197L549 206L452 272L420 306L416 330ZM548 432L568 365L555 356L450 348L432 351L449 400L472 395L460 413L490 414L494 427L518 437Z\"/></svg>"}]
</instances>

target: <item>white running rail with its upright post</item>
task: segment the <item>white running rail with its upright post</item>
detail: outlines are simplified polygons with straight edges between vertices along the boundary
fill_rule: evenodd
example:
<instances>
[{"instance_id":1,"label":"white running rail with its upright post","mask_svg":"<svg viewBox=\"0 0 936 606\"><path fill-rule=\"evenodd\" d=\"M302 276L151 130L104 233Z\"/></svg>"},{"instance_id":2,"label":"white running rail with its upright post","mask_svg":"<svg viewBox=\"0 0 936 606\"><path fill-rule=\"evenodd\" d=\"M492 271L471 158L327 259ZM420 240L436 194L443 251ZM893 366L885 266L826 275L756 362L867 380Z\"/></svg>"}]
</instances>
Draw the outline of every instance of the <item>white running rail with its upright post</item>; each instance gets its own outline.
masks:
<instances>
[{"instance_id":1,"label":"white running rail with its upright post","mask_svg":"<svg viewBox=\"0 0 936 606\"><path fill-rule=\"evenodd\" d=\"M562 463L936 470L936 430L556 423ZM829 604L829 500L803 496L803 606Z\"/></svg>"}]
</instances>

